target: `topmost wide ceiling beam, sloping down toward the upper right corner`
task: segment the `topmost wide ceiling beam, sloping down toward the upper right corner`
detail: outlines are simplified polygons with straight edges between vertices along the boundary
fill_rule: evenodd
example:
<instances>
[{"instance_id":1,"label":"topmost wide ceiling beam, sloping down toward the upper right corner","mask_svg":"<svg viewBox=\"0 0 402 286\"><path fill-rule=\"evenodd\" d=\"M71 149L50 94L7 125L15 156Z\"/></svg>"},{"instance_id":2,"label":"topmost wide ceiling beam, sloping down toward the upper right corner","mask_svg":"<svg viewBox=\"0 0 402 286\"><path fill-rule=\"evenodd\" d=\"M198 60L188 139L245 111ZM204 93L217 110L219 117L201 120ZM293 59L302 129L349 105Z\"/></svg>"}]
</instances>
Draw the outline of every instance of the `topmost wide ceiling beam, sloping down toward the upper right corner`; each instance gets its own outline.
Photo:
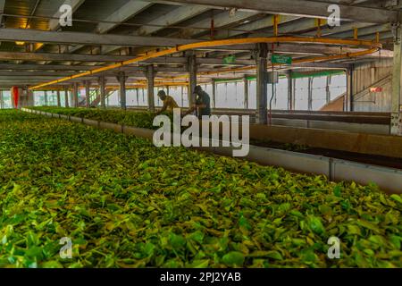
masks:
<instances>
[{"instance_id":1,"label":"topmost wide ceiling beam, sloping down toward the upper right corner","mask_svg":"<svg viewBox=\"0 0 402 286\"><path fill-rule=\"evenodd\" d=\"M157 0L148 0L158 2ZM328 18L328 3L305 0L169 0L172 4L204 4L215 9L236 8L239 11L297 15L309 18ZM367 8L339 4L342 21L363 21L372 23L397 22L398 12L379 8Z\"/></svg>"}]
</instances>

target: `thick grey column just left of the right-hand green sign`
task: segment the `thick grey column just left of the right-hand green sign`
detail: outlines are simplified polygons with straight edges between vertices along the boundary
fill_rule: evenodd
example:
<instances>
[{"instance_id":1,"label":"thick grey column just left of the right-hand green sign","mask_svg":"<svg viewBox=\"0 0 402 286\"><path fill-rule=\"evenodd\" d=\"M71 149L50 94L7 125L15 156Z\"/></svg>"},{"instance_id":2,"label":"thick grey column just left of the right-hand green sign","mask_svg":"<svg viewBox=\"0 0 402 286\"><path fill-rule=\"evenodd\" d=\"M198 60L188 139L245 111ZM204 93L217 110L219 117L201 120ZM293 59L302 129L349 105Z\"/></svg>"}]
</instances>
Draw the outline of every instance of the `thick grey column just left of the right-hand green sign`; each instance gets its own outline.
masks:
<instances>
[{"instance_id":1,"label":"thick grey column just left of the right-hand green sign","mask_svg":"<svg viewBox=\"0 0 402 286\"><path fill-rule=\"evenodd\" d=\"M267 86L267 57L268 45L258 44L256 56L256 123L266 124L268 122L268 86Z\"/></svg>"}]
</instances>

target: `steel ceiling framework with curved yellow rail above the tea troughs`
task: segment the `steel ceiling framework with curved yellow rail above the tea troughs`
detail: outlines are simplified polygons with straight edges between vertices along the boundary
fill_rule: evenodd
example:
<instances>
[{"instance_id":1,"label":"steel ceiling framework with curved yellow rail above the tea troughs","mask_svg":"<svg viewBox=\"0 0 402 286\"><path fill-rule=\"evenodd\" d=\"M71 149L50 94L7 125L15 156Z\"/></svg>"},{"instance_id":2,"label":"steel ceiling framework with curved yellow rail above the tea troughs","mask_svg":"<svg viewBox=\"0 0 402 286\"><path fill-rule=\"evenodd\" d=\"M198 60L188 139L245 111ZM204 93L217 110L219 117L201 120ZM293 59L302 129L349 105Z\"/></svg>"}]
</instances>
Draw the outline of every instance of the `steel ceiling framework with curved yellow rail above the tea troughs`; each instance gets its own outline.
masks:
<instances>
[{"instance_id":1,"label":"steel ceiling framework with curved yellow rail above the tea troughs","mask_svg":"<svg viewBox=\"0 0 402 286\"><path fill-rule=\"evenodd\" d=\"M105 77L105 84L101 86L104 89L118 87L121 95L135 83L148 88L162 83L166 86L182 84L191 90L197 80L222 79L228 76L225 72L238 78L250 73L258 76L264 69L255 67L257 55L261 55L257 46L261 47L261 38L272 38L274 40L263 40L267 52L262 57L264 61L271 54L293 58L292 65L279 66L279 71L347 70L349 89L353 87L353 69L360 63L394 57L392 126L393 133L402 134L402 126L399 126L402 122L399 76L402 6L399 2L1 0L0 88L48 88L42 84L53 82L60 85L57 88L70 88L73 98L77 99L77 85L82 85L82 81L93 87ZM59 8L63 4L71 4L71 27L60 25ZM331 15L329 8L334 4L339 8L339 26L331 26L326 21ZM291 38L297 41L289 41ZM311 45L301 38L329 40ZM345 38L350 38L350 45L368 41L379 43L382 48L370 54L358 45L339 42ZM187 47L193 52L188 53ZM228 55L236 60L223 63ZM191 57L193 64L189 62ZM154 71L152 77L144 72L151 69L149 66ZM124 72L123 77L121 72ZM153 82L148 82L151 78ZM258 87L264 86L262 81L259 80ZM258 102L262 104L258 107L265 110L262 100L266 96L265 89L258 90L261 90L257 94ZM105 95L105 90L100 90L99 94ZM345 110L349 111L354 107L351 92L347 98ZM123 103L124 100L121 97ZM149 108L153 108L152 103ZM264 118L264 114L261 115Z\"/></svg>"}]
</instances>

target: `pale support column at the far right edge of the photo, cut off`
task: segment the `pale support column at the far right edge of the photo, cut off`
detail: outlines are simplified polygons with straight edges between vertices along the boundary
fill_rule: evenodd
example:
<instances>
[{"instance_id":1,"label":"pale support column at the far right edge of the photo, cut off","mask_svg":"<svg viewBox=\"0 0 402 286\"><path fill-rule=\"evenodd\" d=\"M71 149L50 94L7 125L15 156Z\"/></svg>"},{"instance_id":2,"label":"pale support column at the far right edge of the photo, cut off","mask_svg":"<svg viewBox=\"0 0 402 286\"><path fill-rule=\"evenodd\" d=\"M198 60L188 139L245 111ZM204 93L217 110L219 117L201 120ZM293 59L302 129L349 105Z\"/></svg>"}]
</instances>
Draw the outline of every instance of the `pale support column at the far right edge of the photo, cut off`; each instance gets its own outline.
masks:
<instances>
[{"instance_id":1,"label":"pale support column at the far right edge of the photo, cut off","mask_svg":"<svg viewBox=\"0 0 402 286\"><path fill-rule=\"evenodd\" d=\"M392 72L391 135L402 136L402 29L400 23L393 26L394 66Z\"/></svg>"}]
</instances>

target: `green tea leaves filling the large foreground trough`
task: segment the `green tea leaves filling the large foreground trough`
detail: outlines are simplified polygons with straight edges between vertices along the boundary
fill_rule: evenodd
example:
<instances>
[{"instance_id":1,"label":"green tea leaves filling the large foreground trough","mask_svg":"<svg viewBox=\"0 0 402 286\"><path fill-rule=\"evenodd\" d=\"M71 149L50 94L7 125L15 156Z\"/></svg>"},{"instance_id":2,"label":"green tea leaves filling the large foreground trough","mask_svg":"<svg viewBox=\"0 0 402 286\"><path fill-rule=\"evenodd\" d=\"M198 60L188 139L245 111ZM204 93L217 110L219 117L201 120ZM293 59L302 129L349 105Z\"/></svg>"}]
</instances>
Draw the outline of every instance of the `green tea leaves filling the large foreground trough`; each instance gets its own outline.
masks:
<instances>
[{"instance_id":1,"label":"green tea leaves filling the large foreground trough","mask_svg":"<svg viewBox=\"0 0 402 286\"><path fill-rule=\"evenodd\" d=\"M402 267L402 199L373 185L16 111L0 130L0 267Z\"/></svg>"}]
</instances>

